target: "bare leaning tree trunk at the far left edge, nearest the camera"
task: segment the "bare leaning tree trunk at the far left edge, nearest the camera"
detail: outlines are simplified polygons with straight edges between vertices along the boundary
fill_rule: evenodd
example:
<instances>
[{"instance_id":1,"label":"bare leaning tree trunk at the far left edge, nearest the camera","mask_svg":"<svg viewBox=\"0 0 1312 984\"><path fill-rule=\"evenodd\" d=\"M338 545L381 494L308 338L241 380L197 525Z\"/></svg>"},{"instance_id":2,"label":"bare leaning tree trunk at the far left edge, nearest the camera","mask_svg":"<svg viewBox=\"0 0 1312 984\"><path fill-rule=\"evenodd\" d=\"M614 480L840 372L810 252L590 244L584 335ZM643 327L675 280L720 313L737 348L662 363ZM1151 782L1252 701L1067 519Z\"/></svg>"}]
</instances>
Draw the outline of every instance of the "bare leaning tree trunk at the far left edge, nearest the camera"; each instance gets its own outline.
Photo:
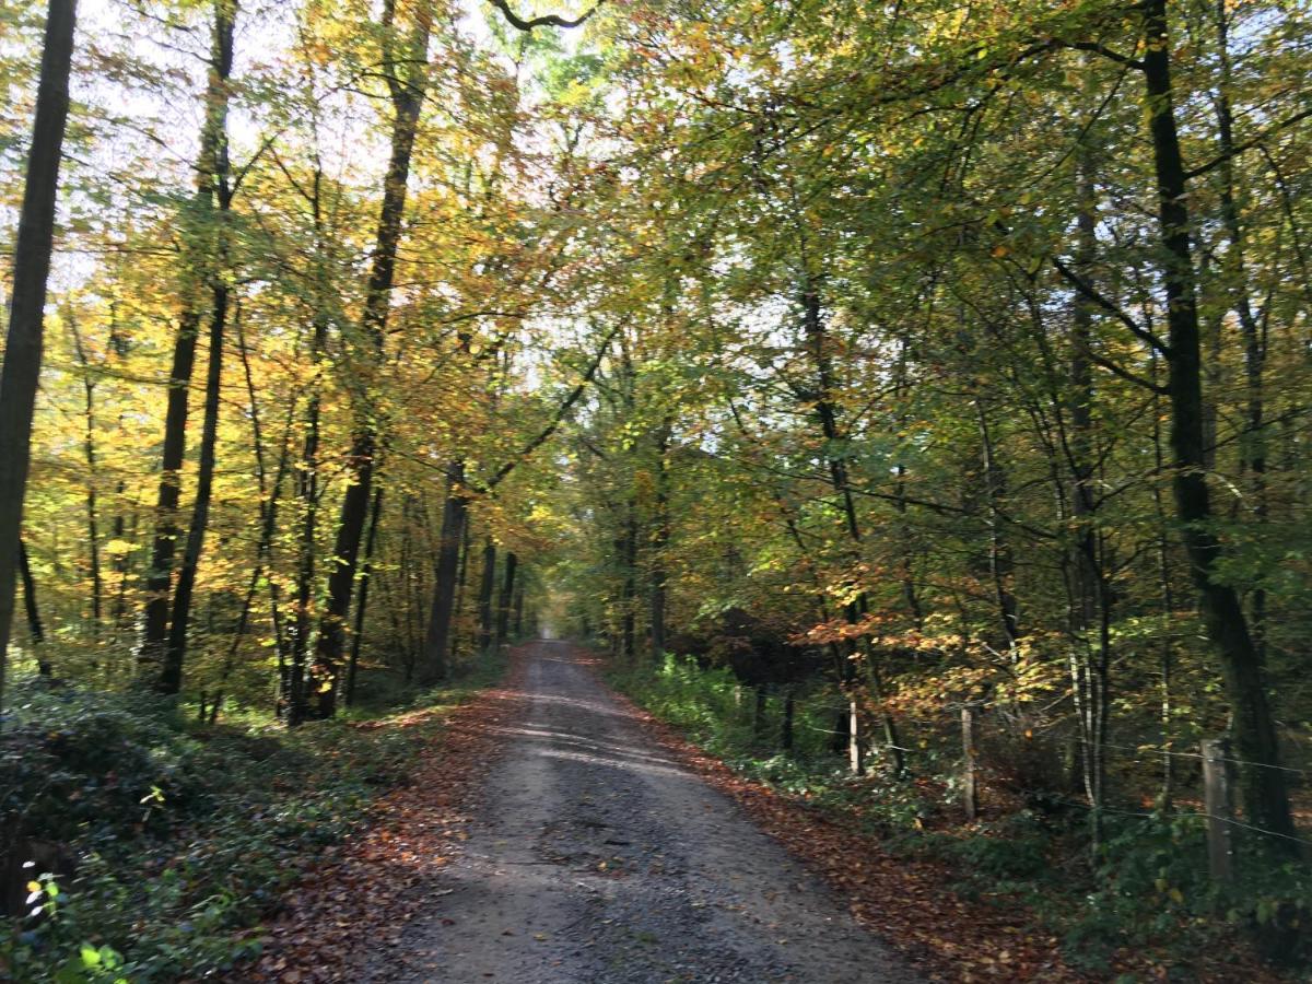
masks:
<instances>
[{"instance_id":1,"label":"bare leaning tree trunk at the far left edge, nearest the camera","mask_svg":"<svg viewBox=\"0 0 1312 984\"><path fill-rule=\"evenodd\" d=\"M28 488L31 419L41 379L46 281L55 239L55 194L68 118L68 71L75 0L50 0L46 13L37 113L13 249L9 329L0 367L0 708L18 579L22 500Z\"/></svg>"}]
</instances>

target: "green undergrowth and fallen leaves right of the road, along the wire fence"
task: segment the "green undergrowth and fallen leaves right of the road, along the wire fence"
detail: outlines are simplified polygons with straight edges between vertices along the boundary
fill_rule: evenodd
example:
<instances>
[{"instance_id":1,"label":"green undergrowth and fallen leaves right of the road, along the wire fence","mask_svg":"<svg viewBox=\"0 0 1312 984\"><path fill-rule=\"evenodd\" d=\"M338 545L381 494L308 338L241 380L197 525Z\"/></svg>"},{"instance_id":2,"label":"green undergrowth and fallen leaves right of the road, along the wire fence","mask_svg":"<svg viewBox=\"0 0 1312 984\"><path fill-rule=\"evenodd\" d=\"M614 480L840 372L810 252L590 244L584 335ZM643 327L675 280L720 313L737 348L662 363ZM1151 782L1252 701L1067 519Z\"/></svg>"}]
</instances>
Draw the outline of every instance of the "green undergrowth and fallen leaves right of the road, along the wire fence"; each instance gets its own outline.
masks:
<instances>
[{"instance_id":1,"label":"green undergrowth and fallen leaves right of the road, along the wire fence","mask_svg":"<svg viewBox=\"0 0 1312 984\"><path fill-rule=\"evenodd\" d=\"M1081 804L1055 790L1026 803L1000 773L981 777L980 815L964 820L959 749L930 736L908 749L907 774L876 760L853 775L830 747L833 697L799 702L785 750L782 702L758 716L727 668L669 656L611 663L607 678L712 757L694 752L703 774L714 779L723 762L747 781L719 775L858 916L937 956L947 979L1275 981L1305 967L1305 867L1256 865L1257 878L1221 891L1207 878L1206 828L1187 811L1109 815L1090 851ZM765 791L792 813L762 807Z\"/></svg>"}]
</instances>

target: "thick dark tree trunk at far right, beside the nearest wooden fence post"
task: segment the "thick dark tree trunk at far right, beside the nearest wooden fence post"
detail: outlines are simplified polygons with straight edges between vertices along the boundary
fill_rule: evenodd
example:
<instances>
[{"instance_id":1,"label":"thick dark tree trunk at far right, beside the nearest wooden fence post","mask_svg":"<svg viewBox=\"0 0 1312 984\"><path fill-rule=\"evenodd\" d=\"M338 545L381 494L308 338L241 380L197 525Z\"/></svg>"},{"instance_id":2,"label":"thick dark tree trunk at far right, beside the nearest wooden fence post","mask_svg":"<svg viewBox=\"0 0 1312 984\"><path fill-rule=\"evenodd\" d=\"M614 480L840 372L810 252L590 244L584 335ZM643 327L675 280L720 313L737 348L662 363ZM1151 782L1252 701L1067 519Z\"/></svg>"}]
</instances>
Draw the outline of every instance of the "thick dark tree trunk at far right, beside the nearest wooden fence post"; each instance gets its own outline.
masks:
<instances>
[{"instance_id":1,"label":"thick dark tree trunk at far right, beside the nearest wooden fence post","mask_svg":"<svg viewBox=\"0 0 1312 984\"><path fill-rule=\"evenodd\" d=\"M1248 821L1294 837L1288 792L1281 762L1275 723L1262 678L1261 656L1249 632L1239 594L1218 576L1223 548L1212 531L1203 445L1202 356L1193 247L1190 244L1189 180L1176 127L1170 77L1166 0L1145 0L1144 106L1149 121L1157 184L1158 223L1164 247L1164 281L1169 341L1166 388L1170 399L1170 450L1176 468L1173 491L1182 525L1185 551L1198 589L1207 635L1221 661L1225 693L1233 715L1235 748L1240 760ZM1292 841L1275 841L1284 850Z\"/></svg>"}]
</instances>

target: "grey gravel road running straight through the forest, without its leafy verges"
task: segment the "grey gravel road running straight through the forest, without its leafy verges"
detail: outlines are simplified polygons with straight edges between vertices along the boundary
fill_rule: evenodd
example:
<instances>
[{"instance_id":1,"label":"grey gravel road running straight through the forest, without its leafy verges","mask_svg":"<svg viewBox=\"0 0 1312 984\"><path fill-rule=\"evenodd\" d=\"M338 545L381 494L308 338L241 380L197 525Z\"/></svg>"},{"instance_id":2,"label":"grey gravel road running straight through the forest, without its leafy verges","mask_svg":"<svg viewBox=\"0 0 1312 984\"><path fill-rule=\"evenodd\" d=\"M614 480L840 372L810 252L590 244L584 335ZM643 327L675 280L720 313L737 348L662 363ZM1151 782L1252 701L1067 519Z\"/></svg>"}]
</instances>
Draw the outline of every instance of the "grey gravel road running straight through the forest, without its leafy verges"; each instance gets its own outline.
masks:
<instances>
[{"instance_id":1,"label":"grey gravel road running straight through the forest, without its leafy verges","mask_svg":"<svg viewBox=\"0 0 1312 984\"><path fill-rule=\"evenodd\" d=\"M653 745L579 649L538 642L526 659L523 718L497 726L509 744L464 850L358 980L921 980Z\"/></svg>"}]
</instances>

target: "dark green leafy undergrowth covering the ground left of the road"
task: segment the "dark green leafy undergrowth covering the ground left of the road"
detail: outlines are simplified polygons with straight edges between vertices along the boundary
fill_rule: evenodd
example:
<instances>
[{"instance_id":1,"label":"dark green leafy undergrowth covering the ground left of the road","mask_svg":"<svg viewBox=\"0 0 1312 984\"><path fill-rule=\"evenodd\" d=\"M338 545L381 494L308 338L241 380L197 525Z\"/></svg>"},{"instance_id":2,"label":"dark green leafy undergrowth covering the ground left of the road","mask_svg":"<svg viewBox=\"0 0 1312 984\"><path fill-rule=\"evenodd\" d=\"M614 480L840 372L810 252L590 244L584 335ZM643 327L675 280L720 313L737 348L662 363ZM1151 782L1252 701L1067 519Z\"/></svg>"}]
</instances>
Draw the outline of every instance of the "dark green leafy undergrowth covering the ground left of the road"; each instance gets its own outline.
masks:
<instances>
[{"instance_id":1,"label":"dark green leafy undergrowth covering the ground left of the road","mask_svg":"<svg viewBox=\"0 0 1312 984\"><path fill-rule=\"evenodd\" d=\"M504 659L291 729L195 720L154 695L28 682L0 737L4 833L41 858L29 917L0 928L0 976L91 984L203 979L260 954L283 893L411 781L451 712ZM39 840L38 840L39 838Z\"/></svg>"}]
</instances>

